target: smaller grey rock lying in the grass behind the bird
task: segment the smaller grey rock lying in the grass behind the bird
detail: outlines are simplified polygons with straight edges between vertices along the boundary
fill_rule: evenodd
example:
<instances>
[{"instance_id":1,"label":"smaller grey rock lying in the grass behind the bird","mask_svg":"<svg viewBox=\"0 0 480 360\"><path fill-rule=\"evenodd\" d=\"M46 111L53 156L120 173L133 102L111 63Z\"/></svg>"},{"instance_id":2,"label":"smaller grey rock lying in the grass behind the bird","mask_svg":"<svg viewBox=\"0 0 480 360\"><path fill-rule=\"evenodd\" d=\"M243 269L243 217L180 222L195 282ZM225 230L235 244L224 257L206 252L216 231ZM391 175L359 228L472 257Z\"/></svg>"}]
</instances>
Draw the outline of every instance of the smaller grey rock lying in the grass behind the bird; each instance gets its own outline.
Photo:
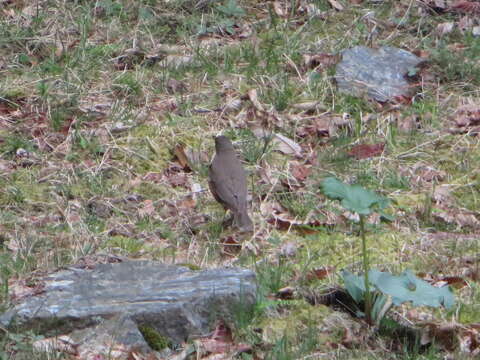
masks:
<instances>
[{"instance_id":1,"label":"smaller grey rock lying in the grass behind the bird","mask_svg":"<svg viewBox=\"0 0 480 360\"><path fill-rule=\"evenodd\" d=\"M405 75L423 60L414 54L384 46L371 49L355 46L342 52L335 80L341 92L377 101L389 101L396 96L408 96L412 87Z\"/></svg>"}]
</instances>

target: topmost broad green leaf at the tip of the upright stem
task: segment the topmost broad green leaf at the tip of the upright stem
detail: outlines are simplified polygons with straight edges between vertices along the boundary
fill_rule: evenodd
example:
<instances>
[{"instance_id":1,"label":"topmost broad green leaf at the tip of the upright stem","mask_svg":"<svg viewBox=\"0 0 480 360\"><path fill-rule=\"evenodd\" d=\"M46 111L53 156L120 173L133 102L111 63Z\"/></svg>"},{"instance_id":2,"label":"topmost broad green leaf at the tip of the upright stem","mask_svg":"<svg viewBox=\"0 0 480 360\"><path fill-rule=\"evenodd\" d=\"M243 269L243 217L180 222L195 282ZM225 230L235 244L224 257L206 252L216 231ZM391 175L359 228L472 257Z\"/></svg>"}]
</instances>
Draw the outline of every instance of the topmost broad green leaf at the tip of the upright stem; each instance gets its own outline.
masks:
<instances>
[{"instance_id":1,"label":"topmost broad green leaf at the tip of the upright stem","mask_svg":"<svg viewBox=\"0 0 480 360\"><path fill-rule=\"evenodd\" d=\"M369 215L382 210L389 204L388 199L367 190L360 185L349 185L330 177L321 183L323 193L331 199L340 200L342 206L360 215Z\"/></svg>"}]
</instances>

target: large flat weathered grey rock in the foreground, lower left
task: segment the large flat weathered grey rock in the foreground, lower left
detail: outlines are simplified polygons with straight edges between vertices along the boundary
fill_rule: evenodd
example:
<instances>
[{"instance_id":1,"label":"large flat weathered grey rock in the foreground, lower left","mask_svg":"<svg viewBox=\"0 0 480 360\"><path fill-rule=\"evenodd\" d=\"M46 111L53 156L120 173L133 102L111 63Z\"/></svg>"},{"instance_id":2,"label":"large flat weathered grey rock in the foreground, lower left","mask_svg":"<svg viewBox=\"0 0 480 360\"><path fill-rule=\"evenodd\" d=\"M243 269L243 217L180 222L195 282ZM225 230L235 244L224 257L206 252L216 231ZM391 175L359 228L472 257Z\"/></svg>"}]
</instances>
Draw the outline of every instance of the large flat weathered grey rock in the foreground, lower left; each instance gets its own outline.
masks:
<instances>
[{"instance_id":1,"label":"large flat weathered grey rock in the foreground, lower left","mask_svg":"<svg viewBox=\"0 0 480 360\"><path fill-rule=\"evenodd\" d=\"M249 270L191 271L150 261L69 268L42 281L44 292L2 314L0 324L65 334L122 315L180 342L207 333L218 318L230 320L233 307L250 306L256 296Z\"/></svg>"}]
</instances>

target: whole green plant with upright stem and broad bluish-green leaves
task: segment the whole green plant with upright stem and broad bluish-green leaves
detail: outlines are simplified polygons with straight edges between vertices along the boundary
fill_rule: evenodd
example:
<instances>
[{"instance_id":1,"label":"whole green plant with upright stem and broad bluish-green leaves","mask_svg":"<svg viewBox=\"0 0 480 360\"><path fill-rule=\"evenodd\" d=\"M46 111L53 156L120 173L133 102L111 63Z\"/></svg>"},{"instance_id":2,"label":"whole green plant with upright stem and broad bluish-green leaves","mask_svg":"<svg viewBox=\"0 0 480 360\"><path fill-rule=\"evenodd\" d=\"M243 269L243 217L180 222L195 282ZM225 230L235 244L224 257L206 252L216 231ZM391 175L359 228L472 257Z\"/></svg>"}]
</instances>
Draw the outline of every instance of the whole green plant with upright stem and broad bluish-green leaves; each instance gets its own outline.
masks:
<instances>
[{"instance_id":1,"label":"whole green plant with upright stem and broad bluish-green leaves","mask_svg":"<svg viewBox=\"0 0 480 360\"><path fill-rule=\"evenodd\" d=\"M448 288L435 288L418 279L409 270L395 276L370 269L365 236L365 216L377 211L384 218L390 219L383 213L383 209L389 204L388 199L360 185L344 184L335 178L325 179L321 186L326 196L340 200L345 209L359 216L364 275L356 276L344 270L342 277L352 298L357 303L364 302L365 317L369 324L378 325L393 305L400 305L403 302L411 301L414 306L444 305L447 308L454 304L453 294Z\"/></svg>"}]
</instances>

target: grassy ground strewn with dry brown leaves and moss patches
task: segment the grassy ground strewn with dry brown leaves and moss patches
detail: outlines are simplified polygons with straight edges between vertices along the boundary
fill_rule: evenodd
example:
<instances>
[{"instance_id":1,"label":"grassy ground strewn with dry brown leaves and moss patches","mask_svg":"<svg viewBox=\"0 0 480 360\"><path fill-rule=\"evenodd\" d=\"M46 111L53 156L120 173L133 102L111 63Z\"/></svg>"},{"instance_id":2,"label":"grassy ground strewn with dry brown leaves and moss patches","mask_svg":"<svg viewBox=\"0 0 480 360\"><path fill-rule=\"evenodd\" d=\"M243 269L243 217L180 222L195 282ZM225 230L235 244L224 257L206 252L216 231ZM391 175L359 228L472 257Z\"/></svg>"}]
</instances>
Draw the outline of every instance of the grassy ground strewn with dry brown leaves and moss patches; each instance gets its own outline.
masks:
<instances>
[{"instance_id":1,"label":"grassy ground strewn with dry brown leaves and moss patches","mask_svg":"<svg viewBox=\"0 0 480 360\"><path fill-rule=\"evenodd\" d=\"M96 254L245 266L261 296L233 329L253 348L238 358L475 356L479 13L448 0L1 1L0 307L32 272ZM355 45L424 58L413 95L340 93L338 54ZM254 234L223 228L208 191L220 132L248 172ZM451 309L390 314L434 345L306 301L361 272L358 218L320 190L331 176L390 199L392 221L367 220L372 267L454 288ZM0 334L13 358L31 351L34 334Z\"/></svg>"}]
</instances>

